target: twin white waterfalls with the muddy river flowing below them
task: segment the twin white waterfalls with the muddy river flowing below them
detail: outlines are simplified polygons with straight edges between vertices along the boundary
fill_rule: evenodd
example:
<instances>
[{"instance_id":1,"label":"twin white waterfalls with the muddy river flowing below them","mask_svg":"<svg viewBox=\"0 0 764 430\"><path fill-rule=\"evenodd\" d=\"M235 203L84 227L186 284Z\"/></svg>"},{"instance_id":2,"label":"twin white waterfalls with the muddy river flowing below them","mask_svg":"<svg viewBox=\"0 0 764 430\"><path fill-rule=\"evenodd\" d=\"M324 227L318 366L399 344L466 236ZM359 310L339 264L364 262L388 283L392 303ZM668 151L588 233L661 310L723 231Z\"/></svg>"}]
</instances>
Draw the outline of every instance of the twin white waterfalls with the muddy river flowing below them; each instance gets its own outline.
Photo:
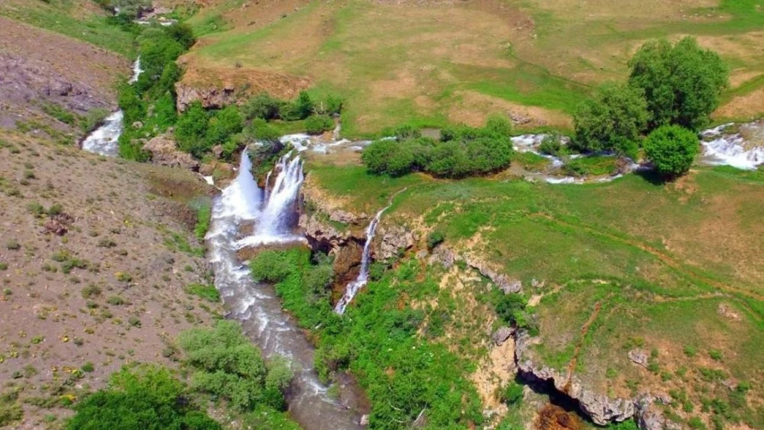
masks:
<instances>
[{"instance_id":1,"label":"twin white waterfalls with the muddy river flowing below them","mask_svg":"<svg viewBox=\"0 0 764 430\"><path fill-rule=\"evenodd\" d=\"M287 154L277 163L269 175L275 176L269 191L258 188L250 170L251 161L244 151L238 176L213 204L206 240L215 287L231 309L230 317L241 323L265 357L280 355L292 362L295 377L286 397L296 422L305 430L363 428L358 424L358 398L351 386L339 386L342 403L329 396L313 370L313 348L303 331L283 312L273 287L255 283L237 255L242 246L301 240L290 221L303 182L299 155ZM242 226L253 223L252 234L239 239Z\"/></svg>"}]
</instances>

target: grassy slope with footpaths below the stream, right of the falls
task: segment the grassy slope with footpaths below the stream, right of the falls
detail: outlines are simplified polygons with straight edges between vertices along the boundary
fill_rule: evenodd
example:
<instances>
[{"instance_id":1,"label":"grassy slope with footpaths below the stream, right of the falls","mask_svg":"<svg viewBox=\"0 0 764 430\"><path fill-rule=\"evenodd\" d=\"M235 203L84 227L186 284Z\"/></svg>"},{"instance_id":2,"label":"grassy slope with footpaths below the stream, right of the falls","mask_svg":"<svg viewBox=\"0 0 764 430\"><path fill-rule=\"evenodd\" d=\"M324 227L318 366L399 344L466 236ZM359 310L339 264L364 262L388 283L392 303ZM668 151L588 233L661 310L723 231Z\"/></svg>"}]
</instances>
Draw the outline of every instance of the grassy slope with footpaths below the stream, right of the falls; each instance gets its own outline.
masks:
<instances>
[{"instance_id":1,"label":"grassy slope with footpaths below the stream, right of the falls","mask_svg":"<svg viewBox=\"0 0 764 430\"><path fill-rule=\"evenodd\" d=\"M685 396L692 406L672 410L684 420L762 424L753 412L764 393L760 172L701 168L676 183L632 174L585 186L420 176L395 183L356 167L309 174L364 210L406 181L383 225L403 223L420 237L443 231L447 246L522 280L540 297L533 355L544 364L563 374L571 366L610 396ZM344 183L355 186L337 185ZM652 354L649 369L630 362L632 348ZM721 384L730 378L751 385L750 407ZM729 409L708 406L714 401Z\"/></svg>"}]
</instances>

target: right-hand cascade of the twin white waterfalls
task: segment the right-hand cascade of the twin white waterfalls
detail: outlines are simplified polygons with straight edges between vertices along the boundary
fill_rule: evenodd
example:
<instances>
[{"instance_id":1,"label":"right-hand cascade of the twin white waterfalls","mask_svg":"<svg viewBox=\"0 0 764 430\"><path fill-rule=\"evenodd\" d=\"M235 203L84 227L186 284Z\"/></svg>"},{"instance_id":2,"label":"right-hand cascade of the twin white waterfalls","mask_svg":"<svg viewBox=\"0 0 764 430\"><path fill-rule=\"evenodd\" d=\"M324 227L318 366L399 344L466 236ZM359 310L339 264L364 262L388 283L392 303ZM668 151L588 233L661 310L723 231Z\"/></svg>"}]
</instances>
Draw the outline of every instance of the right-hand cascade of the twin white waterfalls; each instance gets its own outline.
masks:
<instances>
[{"instance_id":1,"label":"right-hand cascade of the twin white waterfalls","mask_svg":"<svg viewBox=\"0 0 764 430\"><path fill-rule=\"evenodd\" d=\"M274 186L268 189L274 173L277 173ZM303 240L291 231L291 221L296 215L294 205L303 179L303 161L299 155L293 156L290 151L279 159L274 170L268 173L263 208L256 217L254 234L239 241L239 247Z\"/></svg>"}]
</instances>

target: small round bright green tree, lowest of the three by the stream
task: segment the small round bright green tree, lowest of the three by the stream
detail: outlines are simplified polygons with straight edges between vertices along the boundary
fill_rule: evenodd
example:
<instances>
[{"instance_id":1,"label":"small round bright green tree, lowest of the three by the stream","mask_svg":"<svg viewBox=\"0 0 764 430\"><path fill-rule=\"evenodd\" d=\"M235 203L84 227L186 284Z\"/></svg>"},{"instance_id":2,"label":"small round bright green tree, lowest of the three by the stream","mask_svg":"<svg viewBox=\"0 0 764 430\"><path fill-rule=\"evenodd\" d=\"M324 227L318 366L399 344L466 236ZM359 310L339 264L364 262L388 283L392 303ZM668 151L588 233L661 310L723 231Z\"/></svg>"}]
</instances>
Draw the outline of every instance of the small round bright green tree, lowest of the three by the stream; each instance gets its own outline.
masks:
<instances>
[{"instance_id":1,"label":"small round bright green tree, lowest of the three by the stream","mask_svg":"<svg viewBox=\"0 0 764 430\"><path fill-rule=\"evenodd\" d=\"M658 173L678 176L690 170L698 154L698 137L678 125L664 125L649 134L644 148Z\"/></svg>"}]
</instances>

